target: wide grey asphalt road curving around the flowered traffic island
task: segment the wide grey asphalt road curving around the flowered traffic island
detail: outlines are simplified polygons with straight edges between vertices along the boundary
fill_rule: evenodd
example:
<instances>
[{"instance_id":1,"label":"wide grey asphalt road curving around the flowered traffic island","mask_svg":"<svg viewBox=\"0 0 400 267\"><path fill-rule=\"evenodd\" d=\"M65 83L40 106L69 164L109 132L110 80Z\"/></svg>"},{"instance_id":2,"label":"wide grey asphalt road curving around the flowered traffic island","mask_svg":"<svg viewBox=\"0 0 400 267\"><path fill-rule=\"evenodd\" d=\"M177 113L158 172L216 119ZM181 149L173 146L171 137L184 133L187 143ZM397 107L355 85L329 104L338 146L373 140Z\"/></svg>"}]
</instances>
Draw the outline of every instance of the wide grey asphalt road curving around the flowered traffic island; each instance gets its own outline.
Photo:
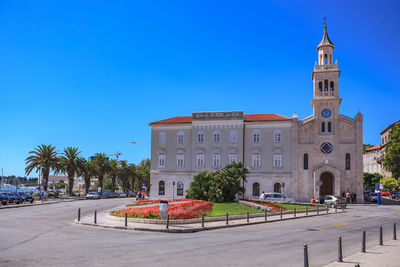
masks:
<instances>
[{"instance_id":1,"label":"wide grey asphalt road curving around the flowered traffic island","mask_svg":"<svg viewBox=\"0 0 400 267\"><path fill-rule=\"evenodd\" d=\"M399 206L359 206L342 215L190 234L99 229L75 225L82 214L124 204L128 199L76 201L0 211L0 266L302 266L303 244L310 265L359 251L361 231L367 247L378 242L378 227L391 238ZM399 220L400 222L400 220ZM400 229L400 228L399 228ZM399 231L400 232L400 231Z\"/></svg>"}]
</instances>

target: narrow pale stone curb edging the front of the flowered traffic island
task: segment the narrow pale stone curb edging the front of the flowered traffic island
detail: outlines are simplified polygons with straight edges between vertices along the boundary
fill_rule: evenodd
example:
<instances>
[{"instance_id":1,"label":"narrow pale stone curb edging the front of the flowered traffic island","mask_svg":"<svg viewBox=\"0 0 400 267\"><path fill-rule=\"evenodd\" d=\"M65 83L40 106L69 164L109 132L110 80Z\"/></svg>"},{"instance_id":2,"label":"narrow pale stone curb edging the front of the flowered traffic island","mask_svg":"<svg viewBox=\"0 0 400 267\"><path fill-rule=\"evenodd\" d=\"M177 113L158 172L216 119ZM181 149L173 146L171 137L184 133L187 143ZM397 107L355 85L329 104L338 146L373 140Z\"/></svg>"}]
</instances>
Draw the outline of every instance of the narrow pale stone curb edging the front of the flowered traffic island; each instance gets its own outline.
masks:
<instances>
[{"instance_id":1,"label":"narrow pale stone curb edging the front of the flowered traffic island","mask_svg":"<svg viewBox=\"0 0 400 267\"><path fill-rule=\"evenodd\" d=\"M347 210L345 210L343 212L347 212ZM142 228L142 227L111 226L111 225L104 225L104 224L81 222L81 221L78 221L77 219L74 220L74 223L80 224L80 225L86 225L86 226L94 226L94 227L100 227L100 228L105 228L105 229L117 229L117 230L131 230L131 231L134 230L134 231L158 232L158 233L195 233L195 232L201 232L201 231L207 231L207 230L217 230L217 229L232 228L232 227L239 227L239 226L246 226L246 225L256 225L256 224L262 224L262 223L274 223L274 222L281 222L281 221L288 221L288 220L295 220L295 219L303 219L303 218L309 218L309 217L315 217L315 216L341 214L343 212L324 213L324 214L319 214L319 215L314 214L314 215L308 215L308 216L304 216L304 217L291 217L291 218L283 218L283 219L273 220L273 221L239 223L239 224L234 224L234 225L228 224L228 225L218 225L218 226L209 226L209 227L205 226L205 227L192 228L192 229L151 229L151 228Z\"/></svg>"}]
</instances>

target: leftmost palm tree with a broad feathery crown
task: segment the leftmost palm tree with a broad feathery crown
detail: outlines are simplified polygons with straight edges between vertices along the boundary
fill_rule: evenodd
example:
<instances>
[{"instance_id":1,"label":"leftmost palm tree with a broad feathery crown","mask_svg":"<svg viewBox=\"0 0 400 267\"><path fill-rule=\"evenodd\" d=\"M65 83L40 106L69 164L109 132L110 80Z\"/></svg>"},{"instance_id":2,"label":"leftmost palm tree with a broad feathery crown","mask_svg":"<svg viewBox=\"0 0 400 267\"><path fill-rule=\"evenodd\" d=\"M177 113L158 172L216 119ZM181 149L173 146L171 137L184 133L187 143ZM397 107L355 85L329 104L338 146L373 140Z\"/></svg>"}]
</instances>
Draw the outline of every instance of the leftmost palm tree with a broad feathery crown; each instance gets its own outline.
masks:
<instances>
[{"instance_id":1,"label":"leftmost palm tree with a broad feathery crown","mask_svg":"<svg viewBox=\"0 0 400 267\"><path fill-rule=\"evenodd\" d=\"M59 168L59 158L57 157L56 147L52 145L40 145L30 151L31 156L25 159L25 173L29 175L33 169L36 172L42 171L43 189L47 191L47 183L49 181L49 173L51 170Z\"/></svg>"}]
</instances>

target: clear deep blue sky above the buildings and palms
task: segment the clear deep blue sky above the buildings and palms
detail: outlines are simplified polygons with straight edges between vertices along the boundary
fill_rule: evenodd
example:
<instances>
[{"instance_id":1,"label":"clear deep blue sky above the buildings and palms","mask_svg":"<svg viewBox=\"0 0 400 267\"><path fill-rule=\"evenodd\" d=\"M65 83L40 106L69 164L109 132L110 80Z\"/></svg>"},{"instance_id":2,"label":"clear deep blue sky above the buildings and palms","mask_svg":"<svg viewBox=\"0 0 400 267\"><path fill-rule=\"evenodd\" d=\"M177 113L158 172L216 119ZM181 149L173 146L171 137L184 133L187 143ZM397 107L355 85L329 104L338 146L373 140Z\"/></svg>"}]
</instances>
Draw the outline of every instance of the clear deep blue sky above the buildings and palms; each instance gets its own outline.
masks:
<instances>
[{"instance_id":1,"label":"clear deep blue sky above the buildings and palms","mask_svg":"<svg viewBox=\"0 0 400 267\"><path fill-rule=\"evenodd\" d=\"M399 12L395 0L1 1L0 168L24 175L42 143L136 163L149 153L129 141L150 146L150 122L193 111L304 118L324 16L341 113L360 110L364 143L378 144L400 119Z\"/></svg>"}]
</instances>

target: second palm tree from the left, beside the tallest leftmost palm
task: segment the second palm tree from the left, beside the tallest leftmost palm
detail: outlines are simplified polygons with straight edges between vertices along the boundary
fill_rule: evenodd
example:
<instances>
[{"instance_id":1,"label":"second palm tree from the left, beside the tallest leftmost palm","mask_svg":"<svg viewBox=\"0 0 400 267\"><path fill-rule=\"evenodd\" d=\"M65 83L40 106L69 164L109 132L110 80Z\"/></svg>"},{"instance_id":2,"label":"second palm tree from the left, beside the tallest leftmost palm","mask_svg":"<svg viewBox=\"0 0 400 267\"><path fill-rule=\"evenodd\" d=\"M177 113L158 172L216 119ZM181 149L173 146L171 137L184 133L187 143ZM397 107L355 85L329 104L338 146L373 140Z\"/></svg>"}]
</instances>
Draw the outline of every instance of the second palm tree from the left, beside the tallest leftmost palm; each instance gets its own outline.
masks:
<instances>
[{"instance_id":1,"label":"second palm tree from the left, beside the tallest leftmost palm","mask_svg":"<svg viewBox=\"0 0 400 267\"><path fill-rule=\"evenodd\" d=\"M64 148L63 153L60 157L60 169L57 172L62 172L68 176L68 193L72 194L72 188L74 187L74 178L79 169L82 167L82 159L79 158L77 147Z\"/></svg>"}]
</instances>

